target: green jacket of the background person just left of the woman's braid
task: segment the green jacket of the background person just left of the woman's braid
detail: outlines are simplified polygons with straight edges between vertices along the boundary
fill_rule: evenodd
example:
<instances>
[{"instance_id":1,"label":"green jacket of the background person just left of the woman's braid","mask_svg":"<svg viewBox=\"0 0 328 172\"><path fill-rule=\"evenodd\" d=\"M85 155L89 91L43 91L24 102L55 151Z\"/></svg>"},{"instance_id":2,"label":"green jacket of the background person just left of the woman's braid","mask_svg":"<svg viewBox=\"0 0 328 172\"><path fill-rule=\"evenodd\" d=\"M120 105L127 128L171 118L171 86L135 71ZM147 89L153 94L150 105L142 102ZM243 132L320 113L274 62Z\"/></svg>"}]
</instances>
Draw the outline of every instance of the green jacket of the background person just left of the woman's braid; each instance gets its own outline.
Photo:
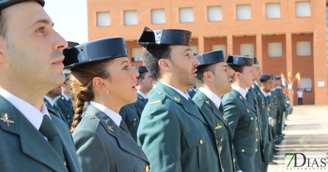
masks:
<instances>
[{"instance_id":1,"label":"green jacket of the background person just left of the woman's braid","mask_svg":"<svg viewBox=\"0 0 328 172\"><path fill-rule=\"evenodd\" d=\"M60 95L54 99L54 102L56 103L57 108L59 108L63 113L68 126L71 127L73 123L73 116L75 114L72 106L72 100L69 99L67 101L64 96Z\"/></svg>"}]
</instances>

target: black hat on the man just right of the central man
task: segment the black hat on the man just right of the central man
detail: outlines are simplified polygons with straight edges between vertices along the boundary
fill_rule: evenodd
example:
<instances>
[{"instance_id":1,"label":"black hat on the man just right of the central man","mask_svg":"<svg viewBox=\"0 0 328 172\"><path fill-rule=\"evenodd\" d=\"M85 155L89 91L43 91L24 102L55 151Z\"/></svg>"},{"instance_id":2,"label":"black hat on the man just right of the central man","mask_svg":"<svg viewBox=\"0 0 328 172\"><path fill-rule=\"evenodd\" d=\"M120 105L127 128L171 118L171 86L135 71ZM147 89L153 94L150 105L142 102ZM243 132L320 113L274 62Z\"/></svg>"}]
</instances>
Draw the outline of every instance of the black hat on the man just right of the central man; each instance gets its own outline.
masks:
<instances>
[{"instance_id":1,"label":"black hat on the man just right of the central man","mask_svg":"<svg viewBox=\"0 0 328 172\"><path fill-rule=\"evenodd\" d=\"M197 68L225 61L225 55L222 50L199 54L195 57L199 60Z\"/></svg>"}]
</instances>

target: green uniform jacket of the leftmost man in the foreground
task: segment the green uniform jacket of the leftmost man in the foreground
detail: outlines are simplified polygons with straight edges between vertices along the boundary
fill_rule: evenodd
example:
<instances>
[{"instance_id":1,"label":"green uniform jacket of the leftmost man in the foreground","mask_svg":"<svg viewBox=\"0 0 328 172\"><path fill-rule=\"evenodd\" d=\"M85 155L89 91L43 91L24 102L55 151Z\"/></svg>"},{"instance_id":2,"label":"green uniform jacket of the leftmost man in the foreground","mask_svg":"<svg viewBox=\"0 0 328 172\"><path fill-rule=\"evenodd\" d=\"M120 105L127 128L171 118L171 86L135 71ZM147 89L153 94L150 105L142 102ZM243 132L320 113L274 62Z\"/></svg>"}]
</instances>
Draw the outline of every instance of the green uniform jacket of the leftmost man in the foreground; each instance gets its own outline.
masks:
<instances>
[{"instance_id":1,"label":"green uniform jacket of the leftmost man in the foreground","mask_svg":"<svg viewBox=\"0 0 328 172\"><path fill-rule=\"evenodd\" d=\"M9 101L0 96L0 112L8 114L14 123L0 121L1 171L68 171L50 143L31 122ZM72 135L64 122L51 114L70 171L82 171L77 159Z\"/></svg>"}]
</instances>

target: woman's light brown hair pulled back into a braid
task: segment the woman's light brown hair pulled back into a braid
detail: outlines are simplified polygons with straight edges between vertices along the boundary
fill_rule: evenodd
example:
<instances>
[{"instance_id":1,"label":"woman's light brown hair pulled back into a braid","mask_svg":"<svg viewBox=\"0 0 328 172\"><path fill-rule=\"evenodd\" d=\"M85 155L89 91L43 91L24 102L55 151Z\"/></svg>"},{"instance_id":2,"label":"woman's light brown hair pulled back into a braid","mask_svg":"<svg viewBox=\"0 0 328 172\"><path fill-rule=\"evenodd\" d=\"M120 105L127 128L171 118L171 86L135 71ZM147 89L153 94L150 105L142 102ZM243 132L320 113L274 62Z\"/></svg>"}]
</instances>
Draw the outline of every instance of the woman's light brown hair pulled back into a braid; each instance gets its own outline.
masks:
<instances>
[{"instance_id":1,"label":"woman's light brown hair pulled back into a braid","mask_svg":"<svg viewBox=\"0 0 328 172\"><path fill-rule=\"evenodd\" d=\"M92 80L94 77L109 78L108 66L113 59L97 61L80 65L71 69L70 83L72 90L72 100L75 102L74 122L71 133L82 120L82 113L85 110L85 103L94 99Z\"/></svg>"}]
</instances>

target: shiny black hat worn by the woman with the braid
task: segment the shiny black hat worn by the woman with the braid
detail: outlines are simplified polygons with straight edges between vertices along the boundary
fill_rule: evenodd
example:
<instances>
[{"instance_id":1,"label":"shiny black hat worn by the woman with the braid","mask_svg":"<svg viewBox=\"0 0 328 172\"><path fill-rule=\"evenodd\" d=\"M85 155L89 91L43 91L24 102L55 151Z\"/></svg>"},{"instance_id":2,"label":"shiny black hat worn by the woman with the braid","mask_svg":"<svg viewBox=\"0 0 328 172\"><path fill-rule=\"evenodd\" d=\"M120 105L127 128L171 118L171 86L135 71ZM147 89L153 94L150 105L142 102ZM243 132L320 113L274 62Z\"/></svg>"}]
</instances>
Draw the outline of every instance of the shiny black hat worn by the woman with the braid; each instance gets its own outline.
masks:
<instances>
[{"instance_id":1,"label":"shiny black hat worn by the woman with the braid","mask_svg":"<svg viewBox=\"0 0 328 172\"><path fill-rule=\"evenodd\" d=\"M123 38L109 37L77 45L65 52L64 69L71 69L80 64L98 60L128 56Z\"/></svg>"}]
</instances>

